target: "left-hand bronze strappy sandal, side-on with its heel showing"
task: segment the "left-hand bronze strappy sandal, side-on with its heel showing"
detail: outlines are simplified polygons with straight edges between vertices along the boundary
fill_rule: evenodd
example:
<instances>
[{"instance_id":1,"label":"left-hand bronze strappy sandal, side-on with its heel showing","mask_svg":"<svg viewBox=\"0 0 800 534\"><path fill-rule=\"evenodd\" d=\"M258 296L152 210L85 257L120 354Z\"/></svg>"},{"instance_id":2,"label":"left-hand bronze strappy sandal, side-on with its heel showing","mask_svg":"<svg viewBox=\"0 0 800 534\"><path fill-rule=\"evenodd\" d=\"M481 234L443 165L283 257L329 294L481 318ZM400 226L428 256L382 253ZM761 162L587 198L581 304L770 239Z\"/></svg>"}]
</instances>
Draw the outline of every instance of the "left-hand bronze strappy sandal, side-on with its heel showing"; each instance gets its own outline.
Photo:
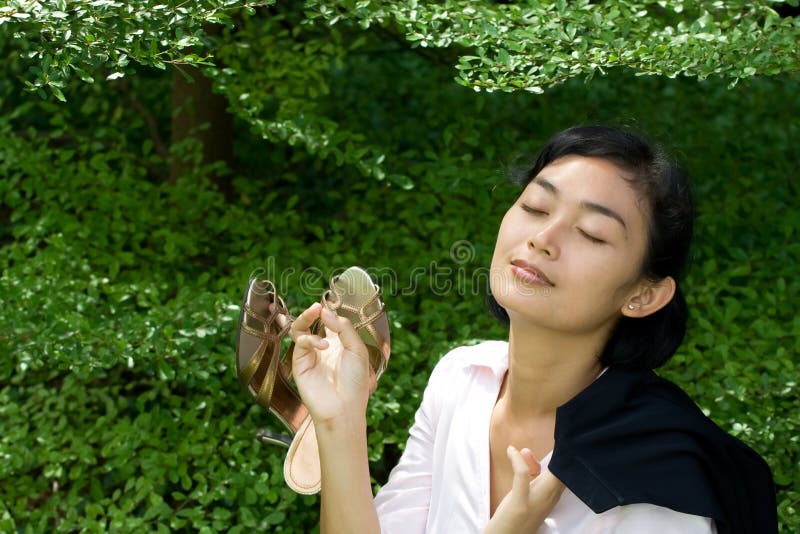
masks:
<instances>
[{"instance_id":1,"label":"left-hand bronze strappy sandal, side-on with its heel showing","mask_svg":"<svg viewBox=\"0 0 800 534\"><path fill-rule=\"evenodd\" d=\"M269 280L252 279L242 298L236 338L236 371L242 387L295 434L308 419L308 410L289 385L291 370L281 361L283 338L292 324ZM259 438L288 446L290 436L262 430Z\"/></svg>"}]
</instances>

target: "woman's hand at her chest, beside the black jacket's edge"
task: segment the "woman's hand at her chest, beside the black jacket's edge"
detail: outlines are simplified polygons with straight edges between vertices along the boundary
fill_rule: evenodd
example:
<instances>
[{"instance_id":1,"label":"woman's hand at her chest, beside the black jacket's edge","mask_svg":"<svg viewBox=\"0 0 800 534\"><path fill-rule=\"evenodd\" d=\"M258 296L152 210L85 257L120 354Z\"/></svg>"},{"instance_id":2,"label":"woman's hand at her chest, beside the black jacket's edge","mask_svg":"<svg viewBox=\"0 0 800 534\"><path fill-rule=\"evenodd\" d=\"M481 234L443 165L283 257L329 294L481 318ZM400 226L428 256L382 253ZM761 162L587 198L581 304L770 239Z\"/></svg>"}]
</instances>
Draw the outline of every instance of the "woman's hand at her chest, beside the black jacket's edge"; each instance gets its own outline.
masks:
<instances>
[{"instance_id":1,"label":"woman's hand at her chest, beside the black jacket's edge","mask_svg":"<svg viewBox=\"0 0 800 534\"><path fill-rule=\"evenodd\" d=\"M564 484L541 466L529 449L508 447L508 459L514 470L511 491L495 510L483 534L536 532L556 505Z\"/></svg>"}]
</instances>

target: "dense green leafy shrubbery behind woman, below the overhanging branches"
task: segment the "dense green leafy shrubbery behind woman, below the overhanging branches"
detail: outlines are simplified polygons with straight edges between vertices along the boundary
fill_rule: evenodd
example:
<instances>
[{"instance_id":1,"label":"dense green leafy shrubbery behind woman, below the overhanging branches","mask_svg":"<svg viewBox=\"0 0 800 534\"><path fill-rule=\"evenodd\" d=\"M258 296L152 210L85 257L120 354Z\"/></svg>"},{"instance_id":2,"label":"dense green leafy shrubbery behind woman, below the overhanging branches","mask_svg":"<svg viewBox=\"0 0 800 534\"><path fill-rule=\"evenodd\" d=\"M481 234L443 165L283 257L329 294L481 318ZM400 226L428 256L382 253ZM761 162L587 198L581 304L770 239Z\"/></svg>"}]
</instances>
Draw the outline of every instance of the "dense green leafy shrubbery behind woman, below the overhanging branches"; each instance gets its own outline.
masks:
<instances>
[{"instance_id":1,"label":"dense green leafy shrubbery behind woman, below the overhanging branches","mask_svg":"<svg viewBox=\"0 0 800 534\"><path fill-rule=\"evenodd\" d=\"M743 55L725 78L713 64L639 77L623 62L592 69L590 82L571 77L580 68L564 83L553 71L543 94L475 92L463 85L469 73L484 89L515 88L491 70L498 48L465 70L459 54L481 58L480 43L412 46L418 26L437 28L433 18L415 25L405 8L382 15L348 2L341 13L240 4L198 2L142 37L167 47L87 47L80 71L77 56L41 37L63 19L0 24L0 531L316 528L317 498L289 491L283 451L254 437L281 429L235 377L240 293L253 273L277 279L295 312L337 269L380 273L393 356L368 417L383 482L438 358L506 335L470 282L516 193L506 171L581 122L643 129L693 176L692 318L661 373L765 456L781 531L800 530L791 57L769 77L745 71ZM227 25L206 31L216 22ZM118 27L91 24L97 41ZM200 72L193 65L223 97L228 138L204 138L218 130L202 123L175 138L176 110L189 105L175 79L178 68ZM211 159L198 139L233 152Z\"/></svg>"}]
</instances>

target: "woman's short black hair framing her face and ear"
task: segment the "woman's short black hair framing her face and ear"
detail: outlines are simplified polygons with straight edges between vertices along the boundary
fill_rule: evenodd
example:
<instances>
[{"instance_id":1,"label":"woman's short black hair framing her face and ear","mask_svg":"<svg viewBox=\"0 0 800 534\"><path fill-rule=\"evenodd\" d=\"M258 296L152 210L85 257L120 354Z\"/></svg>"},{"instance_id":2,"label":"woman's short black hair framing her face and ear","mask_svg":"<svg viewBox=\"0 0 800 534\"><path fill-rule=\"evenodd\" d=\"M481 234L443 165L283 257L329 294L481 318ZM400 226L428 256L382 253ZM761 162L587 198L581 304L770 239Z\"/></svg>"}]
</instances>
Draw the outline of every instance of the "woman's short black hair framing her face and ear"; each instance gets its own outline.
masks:
<instances>
[{"instance_id":1,"label":"woman's short black hair framing her face and ear","mask_svg":"<svg viewBox=\"0 0 800 534\"><path fill-rule=\"evenodd\" d=\"M528 185L539 172L564 156L602 158L625 173L625 179L647 205L648 241L641 272L651 281L675 279L672 300L646 317L622 316L600 354L604 366L655 369L669 360L686 334L688 308L680 279L689 264L694 224L689 179L664 150L643 136L607 126L576 126L551 137L532 167L512 177ZM491 295L495 317L509 324L506 310Z\"/></svg>"}]
</instances>

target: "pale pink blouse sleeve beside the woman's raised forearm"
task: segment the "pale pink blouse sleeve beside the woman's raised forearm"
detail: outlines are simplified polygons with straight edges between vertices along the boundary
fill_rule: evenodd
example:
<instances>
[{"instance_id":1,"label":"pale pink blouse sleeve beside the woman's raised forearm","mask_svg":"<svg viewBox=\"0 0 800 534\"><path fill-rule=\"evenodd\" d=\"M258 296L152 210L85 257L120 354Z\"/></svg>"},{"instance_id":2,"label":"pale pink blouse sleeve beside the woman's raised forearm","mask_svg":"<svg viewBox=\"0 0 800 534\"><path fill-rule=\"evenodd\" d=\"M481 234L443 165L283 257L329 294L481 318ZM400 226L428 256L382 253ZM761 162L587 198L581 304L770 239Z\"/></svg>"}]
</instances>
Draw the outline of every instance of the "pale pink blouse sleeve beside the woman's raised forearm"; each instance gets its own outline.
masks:
<instances>
[{"instance_id":1,"label":"pale pink blouse sleeve beside the woman's raised forearm","mask_svg":"<svg viewBox=\"0 0 800 534\"><path fill-rule=\"evenodd\" d=\"M433 452L439 415L441 362L434 369L414 416L405 451L375 497L382 534L424 533L430 508Z\"/></svg>"}]
</instances>

